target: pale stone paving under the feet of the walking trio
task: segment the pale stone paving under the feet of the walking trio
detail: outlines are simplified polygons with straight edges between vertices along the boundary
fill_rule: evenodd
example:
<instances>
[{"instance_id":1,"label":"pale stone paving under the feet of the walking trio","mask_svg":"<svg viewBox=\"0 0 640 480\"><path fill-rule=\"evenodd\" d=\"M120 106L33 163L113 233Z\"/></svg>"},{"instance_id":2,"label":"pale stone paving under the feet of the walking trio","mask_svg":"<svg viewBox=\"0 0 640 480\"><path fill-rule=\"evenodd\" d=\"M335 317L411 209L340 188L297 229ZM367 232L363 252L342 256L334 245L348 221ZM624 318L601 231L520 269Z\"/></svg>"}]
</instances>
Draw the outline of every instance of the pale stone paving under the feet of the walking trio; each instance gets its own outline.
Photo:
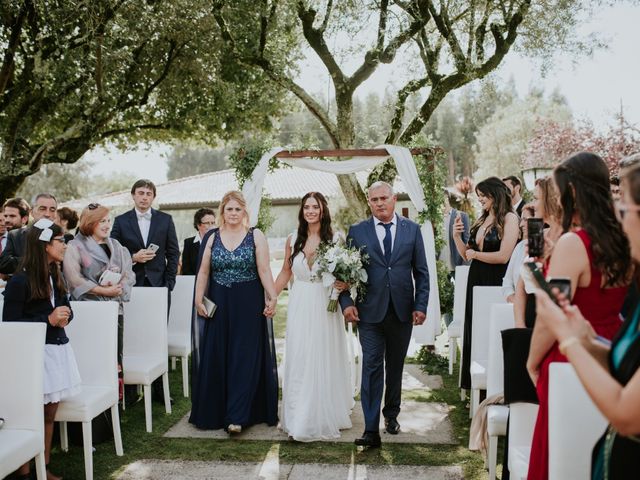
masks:
<instances>
[{"instance_id":1,"label":"pale stone paving under the feet of the walking trio","mask_svg":"<svg viewBox=\"0 0 640 480\"><path fill-rule=\"evenodd\" d=\"M405 365L402 390L404 398L408 394L414 393L425 396L432 389L442 386L442 379L439 376L429 376L424 374L417 365ZM381 423L380 432L382 442L388 443L418 443L418 444L447 444L455 443L453 440L451 423L447 418L448 406L442 403L418 402L406 400L402 402L401 413L398 421L402 426L399 435L388 435L384 432L384 425ZM224 430L198 430L188 422L189 414L185 415L176 425L171 427L165 437L173 438L214 438L226 439L229 436ZM381 418L382 421L382 418ZM364 417L360 402L356 402L353 414L351 415L353 427L343 430L342 436L336 442L352 443L364 431ZM270 440L287 441L287 435L275 427L266 424L254 425L247 428L239 435L234 435L237 440Z\"/></svg>"}]
</instances>

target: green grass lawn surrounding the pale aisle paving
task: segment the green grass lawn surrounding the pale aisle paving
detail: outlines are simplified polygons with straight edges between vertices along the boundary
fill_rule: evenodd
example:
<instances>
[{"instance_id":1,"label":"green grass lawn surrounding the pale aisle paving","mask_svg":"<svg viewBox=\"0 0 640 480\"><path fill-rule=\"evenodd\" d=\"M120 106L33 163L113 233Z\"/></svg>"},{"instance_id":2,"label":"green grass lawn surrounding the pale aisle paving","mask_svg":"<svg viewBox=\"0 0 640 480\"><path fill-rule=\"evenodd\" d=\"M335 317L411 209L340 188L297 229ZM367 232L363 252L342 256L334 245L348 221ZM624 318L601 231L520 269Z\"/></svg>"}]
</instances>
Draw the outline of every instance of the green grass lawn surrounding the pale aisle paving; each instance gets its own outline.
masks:
<instances>
[{"instance_id":1,"label":"green grass lawn surrounding the pale aisle paving","mask_svg":"<svg viewBox=\"0 0 640 480\"><path fill-rule=\"evenodd\" d=\"M279 309L274 319L276 336L284 335L287 295L281 297ZM470 452L466 446L469 437L469 415L460 401L457 388L457 369L449 376L446 359L442 357L414 359L416 363L426 364L430 374L442 375L444 386L434 391L429 398L418 400L444 402L451 406L450 419L453 425L456 443L451 445L407 445L383 444L378 450L358 451L347 443L315 442L311 444L282 442L279 445L279 459L282 464L295 463L334 463L363 465L460 465L466 479L486 479L482 457ZM172 397L175 400L173 414L166 415L164 407L154 403L153 433L145 432L144 405L139 402L121 413L123 457L115 455L113 442L96 445L94 452L94 472L96 480L116 478L124 467L140 459L181 459L200 461L261 462L273 442L249 440L212 440L164 438L162 435L191 408L191 399L182 396L180 368L170 372ZM64 453L59 448L59 440L54 438L54 450L51 456L51 469L67 479L84 478L84 459L82 447L70 446ZM500 457L499 457L500 458Z\"/></svg>"}]
</instances>

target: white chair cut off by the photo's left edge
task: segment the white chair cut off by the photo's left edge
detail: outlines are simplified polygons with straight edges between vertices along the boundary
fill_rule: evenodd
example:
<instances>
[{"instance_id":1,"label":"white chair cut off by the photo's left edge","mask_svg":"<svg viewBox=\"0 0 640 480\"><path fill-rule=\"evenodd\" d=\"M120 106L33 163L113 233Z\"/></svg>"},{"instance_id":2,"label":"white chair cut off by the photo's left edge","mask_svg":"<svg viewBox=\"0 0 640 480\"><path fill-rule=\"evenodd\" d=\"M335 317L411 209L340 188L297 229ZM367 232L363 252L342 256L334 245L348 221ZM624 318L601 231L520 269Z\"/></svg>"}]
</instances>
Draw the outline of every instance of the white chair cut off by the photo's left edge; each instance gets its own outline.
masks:
<instances>
[{"instance_id":1,"label":"white chair cut off by the photo's left edge","mask_svg":"<svg viewBox=\"0 0 640 480\"><path fill-rule=\"evenodd\" d=\"M0 478L35 457L38 480L44 462L44 323L0 323Z\"/></svg>"}]
</instances>

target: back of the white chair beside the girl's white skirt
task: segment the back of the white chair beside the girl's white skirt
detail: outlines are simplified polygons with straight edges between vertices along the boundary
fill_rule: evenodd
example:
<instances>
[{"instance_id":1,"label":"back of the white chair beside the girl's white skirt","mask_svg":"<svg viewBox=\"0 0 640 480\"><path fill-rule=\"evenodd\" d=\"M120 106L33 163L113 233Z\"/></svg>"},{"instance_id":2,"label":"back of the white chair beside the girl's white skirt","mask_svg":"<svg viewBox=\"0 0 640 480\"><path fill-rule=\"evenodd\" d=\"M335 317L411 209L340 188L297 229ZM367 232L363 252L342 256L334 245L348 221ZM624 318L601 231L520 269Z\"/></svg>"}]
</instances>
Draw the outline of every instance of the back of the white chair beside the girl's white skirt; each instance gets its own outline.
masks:
<instances>
[{"instance_id":1,"label":"back of the white chair beside the girl's white skirt","mask_svg":"<svg viewBox=\"0 0 640 480\"><path fill-rule=\"evenodd\" d=\"M118 303L71 302L65 327L82 385L111 387L118 394Z\"/></svg>"}]
</instances>

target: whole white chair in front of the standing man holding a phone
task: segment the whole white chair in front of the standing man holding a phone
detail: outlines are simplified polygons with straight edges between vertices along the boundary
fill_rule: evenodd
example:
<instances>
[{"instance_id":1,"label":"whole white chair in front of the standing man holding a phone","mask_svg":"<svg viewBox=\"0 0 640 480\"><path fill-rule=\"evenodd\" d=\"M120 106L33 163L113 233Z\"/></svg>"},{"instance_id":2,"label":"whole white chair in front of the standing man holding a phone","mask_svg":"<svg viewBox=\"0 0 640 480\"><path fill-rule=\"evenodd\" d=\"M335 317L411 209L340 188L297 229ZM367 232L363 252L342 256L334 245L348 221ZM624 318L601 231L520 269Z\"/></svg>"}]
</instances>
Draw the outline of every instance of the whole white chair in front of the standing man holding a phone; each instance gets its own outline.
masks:
<instances>
[{"instance_id":1,"label":"whole white chair in front of the standing man holding a phone","mask_svg":"<svg viewBox=\"0 0 640 480\"><path fill-rule=\"evenodd\" d=\"M151 420L151 383L162 377L164 407L171 413L167 343L167 289L133 287L124 304L123 373L127 385L142 385L147 432Z\"/></svg>"}]
</instances>

